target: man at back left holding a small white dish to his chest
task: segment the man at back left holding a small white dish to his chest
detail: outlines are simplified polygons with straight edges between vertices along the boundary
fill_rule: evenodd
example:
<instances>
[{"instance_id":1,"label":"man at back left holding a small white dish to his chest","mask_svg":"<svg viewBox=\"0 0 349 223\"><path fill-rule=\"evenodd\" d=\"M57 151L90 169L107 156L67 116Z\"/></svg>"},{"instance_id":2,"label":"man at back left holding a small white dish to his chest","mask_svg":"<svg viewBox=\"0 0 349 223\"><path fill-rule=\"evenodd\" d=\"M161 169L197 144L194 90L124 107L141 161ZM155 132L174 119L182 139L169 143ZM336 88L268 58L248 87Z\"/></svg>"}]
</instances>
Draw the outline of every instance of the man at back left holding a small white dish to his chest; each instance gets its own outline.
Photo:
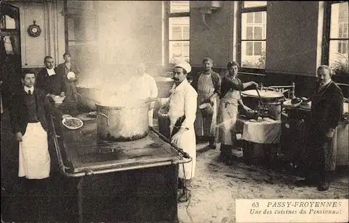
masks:
<instances>
[{"instance_id":1,"label":"man at back left holding a small white dish to his chest","mask_svg":"<svg viewBox=\"0 0 349 223\"><path fill-rule=\"evenodd\" d=\"M63 58L64 63L59 64L56 68L57 75L62 77L63 90L66 94L62 111L75 115L78 114L77 102L79 96L76 91L76 83L80 76L80 68L76 63L71 61L71 54L69 52L65 52Z\"/></svg>"}]
</instances>

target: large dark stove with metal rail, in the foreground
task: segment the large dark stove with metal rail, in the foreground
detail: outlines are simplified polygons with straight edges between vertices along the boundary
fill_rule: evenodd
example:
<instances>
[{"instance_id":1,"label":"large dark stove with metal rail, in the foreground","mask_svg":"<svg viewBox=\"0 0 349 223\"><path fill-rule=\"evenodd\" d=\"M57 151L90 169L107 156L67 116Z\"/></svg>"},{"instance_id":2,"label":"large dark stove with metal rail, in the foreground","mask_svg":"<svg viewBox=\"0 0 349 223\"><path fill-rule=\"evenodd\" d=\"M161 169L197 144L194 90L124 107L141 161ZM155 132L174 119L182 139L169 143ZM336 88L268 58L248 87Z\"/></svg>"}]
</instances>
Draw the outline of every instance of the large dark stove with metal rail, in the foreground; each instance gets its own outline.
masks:
<instances>
[{"instance_id":1,"label":"large dark stove with metal rail, in the foreground","mask_svg":"<svg viewBox=\"0 0 349 223\"><path fill-rule=\"evenodd\" d=\"M96 128L54 132L61 173L78 181L76 222L177 222L178 168L191 158L152 128L127 142L100 141Z\"/></svg>"}]
</instances>

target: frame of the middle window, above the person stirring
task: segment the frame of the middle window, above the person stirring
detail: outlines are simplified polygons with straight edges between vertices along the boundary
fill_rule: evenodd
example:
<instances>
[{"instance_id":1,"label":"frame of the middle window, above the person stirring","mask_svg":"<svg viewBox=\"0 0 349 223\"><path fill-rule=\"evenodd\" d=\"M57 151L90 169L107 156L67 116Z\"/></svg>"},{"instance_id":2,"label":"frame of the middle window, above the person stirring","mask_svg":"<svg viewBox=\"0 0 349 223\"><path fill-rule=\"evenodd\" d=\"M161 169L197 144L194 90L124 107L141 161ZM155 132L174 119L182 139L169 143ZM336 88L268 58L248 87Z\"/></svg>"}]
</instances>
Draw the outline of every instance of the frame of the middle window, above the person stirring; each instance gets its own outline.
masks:
<instances>
[{"instance_id":1,"label":"frame of the middle window, above the person stirring","mask_svg":"<svg viewBox=\"0 0 349 223\"><path fill-rule=\"evenodd\" d=\"M244 1L239 1L237 3L237 47L236 47L236 58L237 58L237 63L239 63L239 65L240 65L239 70L242 71L242 72L253 72L253 73L264 73L265 72L265 68L243 68L242 67L242 42L251 41L251 40L242 40L242 14L243 13L258 13L258 12L265 12L265 13L267 13L267 5L244 8ZM254 22L254 20L255 19L253 17L253 22ZM253 23L253 24L255 24L255 23ZM254 29L254 27L255 26L253 26L253 29ZM267 24L266 24L265 29L267 31ZM265 36L265 39L253 40L253 42L254 41L260 41L260 43L265 42L265 44L267 45L267 35ZM254 54L254 49L253 49L253 54Z\"/></svg>"}]
</instances>

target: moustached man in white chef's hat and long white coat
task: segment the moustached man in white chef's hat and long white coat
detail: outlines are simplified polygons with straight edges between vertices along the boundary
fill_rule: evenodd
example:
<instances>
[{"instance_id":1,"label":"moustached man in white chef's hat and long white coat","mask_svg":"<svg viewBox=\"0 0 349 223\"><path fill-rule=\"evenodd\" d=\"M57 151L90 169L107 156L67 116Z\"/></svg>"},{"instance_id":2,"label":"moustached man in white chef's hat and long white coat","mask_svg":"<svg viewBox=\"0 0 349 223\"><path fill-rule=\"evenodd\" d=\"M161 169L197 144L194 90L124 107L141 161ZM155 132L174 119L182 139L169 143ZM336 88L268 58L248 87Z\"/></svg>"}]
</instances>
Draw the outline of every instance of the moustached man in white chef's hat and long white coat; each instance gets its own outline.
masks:
<instances>
[{"instance_id":1,"label":"moustached man in white chef's hat and long white coat","mask_svg":"<svg viewBox=\"0 0 349 223\"><path fill-rule=\"evenodd\" d=\"M169 106L170 140L192 158L191 162L179 164L179 187L184 187L179 194L179 202L186 202L191 197L191 179L195 175L196 164L194 121L198 93L186 79L188 72L191 72L189 63L177 63L173 69L171 95L160 100L161 105Z\"/></svg>"}]
</instances>

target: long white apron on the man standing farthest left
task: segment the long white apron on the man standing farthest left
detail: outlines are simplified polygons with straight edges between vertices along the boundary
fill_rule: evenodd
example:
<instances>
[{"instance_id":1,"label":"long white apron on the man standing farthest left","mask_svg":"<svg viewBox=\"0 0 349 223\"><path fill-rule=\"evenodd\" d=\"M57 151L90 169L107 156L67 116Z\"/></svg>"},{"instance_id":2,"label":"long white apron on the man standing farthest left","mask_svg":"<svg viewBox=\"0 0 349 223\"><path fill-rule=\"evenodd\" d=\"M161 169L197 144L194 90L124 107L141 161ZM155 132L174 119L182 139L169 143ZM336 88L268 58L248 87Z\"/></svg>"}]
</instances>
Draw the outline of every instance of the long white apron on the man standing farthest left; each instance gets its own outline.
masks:
<instances>
[{"instance_id":1,"label":"long white apron on the man standing farthest left","mask_svg":"<svg viewBox=\"0 0 349 223\"><path fill-rule=\"evenodd\" d=\"M28 179L50 176L51 160L47 146L47 132L41 123L28 123L23 141L20 141L18 176Z\"/></svg>"}]
</instances>

